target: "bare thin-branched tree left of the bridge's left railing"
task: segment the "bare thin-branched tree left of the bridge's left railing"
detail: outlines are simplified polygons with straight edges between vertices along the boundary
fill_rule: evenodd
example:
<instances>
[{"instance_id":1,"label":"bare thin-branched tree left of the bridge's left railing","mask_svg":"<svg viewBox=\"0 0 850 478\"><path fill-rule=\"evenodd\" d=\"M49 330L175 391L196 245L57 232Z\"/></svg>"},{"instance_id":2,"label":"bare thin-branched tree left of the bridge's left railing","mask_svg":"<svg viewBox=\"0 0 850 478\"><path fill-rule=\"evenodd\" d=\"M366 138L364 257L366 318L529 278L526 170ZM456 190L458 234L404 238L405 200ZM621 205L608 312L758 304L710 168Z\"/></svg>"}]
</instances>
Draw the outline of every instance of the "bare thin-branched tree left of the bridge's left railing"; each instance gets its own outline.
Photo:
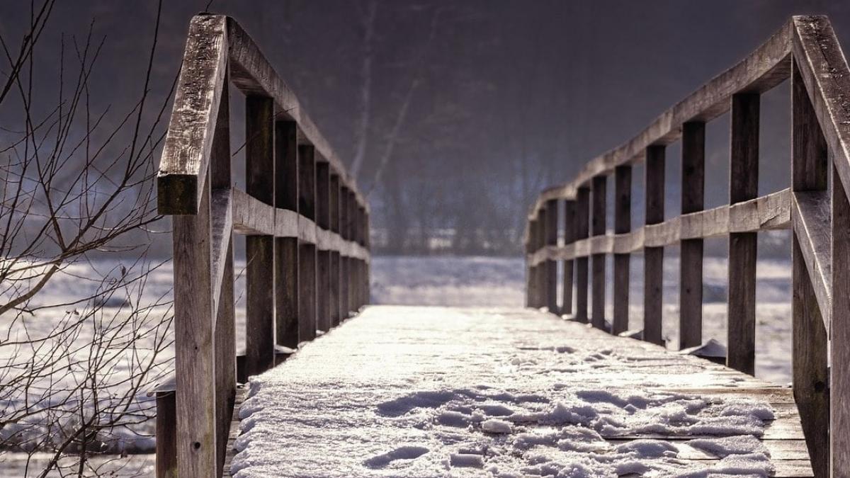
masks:
<instances>
[{"instance_id":1,"label":"bare thin-branched tree left of the bridge's left railing","mask_svg":"<svg viewBox=\"0 0 850 478\"><path fill-rule=\"evenodd\" d=\"M150 447L145 392L172 354L167 265L148 258L171 96L150 91L161 3L139 97L118 114L93 108L104 41L63 36L43 68L54 0L30 9L17 44L0 35L0 466L26 452L26 476L114 473L99 455Z\"/></svg>"}]
</instances>

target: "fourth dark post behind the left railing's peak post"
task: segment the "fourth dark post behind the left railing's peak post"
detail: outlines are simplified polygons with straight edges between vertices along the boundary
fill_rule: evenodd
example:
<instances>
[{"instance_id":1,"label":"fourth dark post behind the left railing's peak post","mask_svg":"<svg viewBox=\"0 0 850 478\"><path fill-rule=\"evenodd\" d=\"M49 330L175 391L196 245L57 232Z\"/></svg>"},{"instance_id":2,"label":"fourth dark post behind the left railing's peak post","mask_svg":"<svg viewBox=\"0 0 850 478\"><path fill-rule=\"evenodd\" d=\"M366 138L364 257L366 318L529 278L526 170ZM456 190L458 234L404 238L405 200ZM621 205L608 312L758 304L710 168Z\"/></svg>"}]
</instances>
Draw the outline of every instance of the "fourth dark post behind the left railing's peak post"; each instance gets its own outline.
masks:
<instances>
[{"instance_id":1,"label":"fourth dark post behind the left railing's peak post","mask_svg":"<svg viewBox=\"0 0 850 478\"><path fill-rule=\"evenodd\" d=\"M316 225L331 229L331 165L316 162ZM316 328L331 329L331 251L316 251Z\"/></svg>"}]
</instances>

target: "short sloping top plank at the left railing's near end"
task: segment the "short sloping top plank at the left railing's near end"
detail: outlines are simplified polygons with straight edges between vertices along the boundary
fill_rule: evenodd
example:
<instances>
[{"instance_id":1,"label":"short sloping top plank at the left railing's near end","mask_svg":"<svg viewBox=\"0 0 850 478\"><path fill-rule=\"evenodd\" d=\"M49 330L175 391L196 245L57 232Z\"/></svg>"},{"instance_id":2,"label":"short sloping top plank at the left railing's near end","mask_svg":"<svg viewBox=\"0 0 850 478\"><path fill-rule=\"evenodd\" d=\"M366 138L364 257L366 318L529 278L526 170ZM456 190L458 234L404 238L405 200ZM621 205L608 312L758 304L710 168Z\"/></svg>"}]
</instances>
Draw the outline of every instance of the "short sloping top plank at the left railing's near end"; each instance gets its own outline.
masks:
<instances>
[{"instance_id":1,"label":"short sloping top plank at the left railing's near end","mask_svg":"<svg viewBox=\"0 0 850 478\"><path fill-rule=\"evenodd\" d=\"M193 17L187 38L156 174L156 204L161 214L198 213L218 105L226 89L228 38L224 17Z\"/></svg>"}]
</instances>

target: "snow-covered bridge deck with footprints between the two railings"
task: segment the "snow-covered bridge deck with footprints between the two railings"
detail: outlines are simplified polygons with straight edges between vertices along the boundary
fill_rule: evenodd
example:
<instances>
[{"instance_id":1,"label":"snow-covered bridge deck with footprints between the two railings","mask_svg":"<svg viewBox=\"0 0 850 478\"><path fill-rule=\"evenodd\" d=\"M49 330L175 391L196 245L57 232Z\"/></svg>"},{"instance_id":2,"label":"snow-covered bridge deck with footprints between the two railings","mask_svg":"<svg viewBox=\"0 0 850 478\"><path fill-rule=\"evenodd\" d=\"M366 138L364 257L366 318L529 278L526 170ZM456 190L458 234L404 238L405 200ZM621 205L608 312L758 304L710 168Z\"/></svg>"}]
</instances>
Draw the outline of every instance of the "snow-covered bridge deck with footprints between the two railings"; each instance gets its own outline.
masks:
<instances>
[{"instance_id":1,"label":"snow-covered bridge deck with footprints between the two railings","mask_svg":"<svg viewBox=\"0 0 850 478\"><path fill-rule=\"evenodd\" d=\"M371 306L247 395L242 478L812 476L791 390L533 310Z\"/></svg>"}]
</instances>

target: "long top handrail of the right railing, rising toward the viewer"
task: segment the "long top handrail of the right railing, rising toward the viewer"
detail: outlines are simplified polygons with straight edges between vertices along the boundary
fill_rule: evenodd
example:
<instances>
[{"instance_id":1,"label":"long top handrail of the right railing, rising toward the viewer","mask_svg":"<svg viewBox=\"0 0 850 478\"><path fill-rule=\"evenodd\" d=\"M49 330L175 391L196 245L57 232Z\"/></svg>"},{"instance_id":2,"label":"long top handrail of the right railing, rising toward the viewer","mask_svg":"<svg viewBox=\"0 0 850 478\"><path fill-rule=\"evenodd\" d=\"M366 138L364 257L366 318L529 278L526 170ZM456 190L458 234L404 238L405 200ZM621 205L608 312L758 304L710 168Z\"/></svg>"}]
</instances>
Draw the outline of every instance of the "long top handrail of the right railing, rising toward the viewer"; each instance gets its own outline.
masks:
<instances>
[{"instance_id":1,"label":"long top handrail of the right railing, rising toward the viewer","mask_svg":"<svg viewBox=\"0 0 850 478\"><path fill-rule=\"evenodd\" d=\"M693 94L661 113L637 136L587 162L579 174L576 174L575 178L569 183L547 188L547 199L573 199L575 191L581 185L590 181L593 176L611 174L617 166L643 160L643 154L650 146L669 145L676 141L681 134L679 126L684 122L709 122L728 111L733 94L740 92L764 93L782 83L791 72L791 38L794 35L795 26L797 31L801 31L800 25L802 23L810 25L813 22L817 22L818 26L811 28L816 29L820 35L824 35L826 29L823 24L827 26L829 24L825 17L794 17L792 21L782 26L779 31L768 38L768 41L762 43L745 59L740 60L738 64L727 71L723 71L694 91ZM828 32L831 38L834 38L831 28ZM797 35L799 36L800 33L798 32ZM814 33L809 36L814 36ZM830 60L834 60L834 64L830 62L830 66L839 64L835 54L830 55ZM830 77L829 74L823 76ZM834 75L832 77L832 82L835 82L837 78L846 83L850 75L846 74L843 77ZM836 110L839 109L837 103L834 106L836 106ZM535 213L541 205L541 201L536 202L530 210L530 215Z\"/></svg>"}]
</instances>

